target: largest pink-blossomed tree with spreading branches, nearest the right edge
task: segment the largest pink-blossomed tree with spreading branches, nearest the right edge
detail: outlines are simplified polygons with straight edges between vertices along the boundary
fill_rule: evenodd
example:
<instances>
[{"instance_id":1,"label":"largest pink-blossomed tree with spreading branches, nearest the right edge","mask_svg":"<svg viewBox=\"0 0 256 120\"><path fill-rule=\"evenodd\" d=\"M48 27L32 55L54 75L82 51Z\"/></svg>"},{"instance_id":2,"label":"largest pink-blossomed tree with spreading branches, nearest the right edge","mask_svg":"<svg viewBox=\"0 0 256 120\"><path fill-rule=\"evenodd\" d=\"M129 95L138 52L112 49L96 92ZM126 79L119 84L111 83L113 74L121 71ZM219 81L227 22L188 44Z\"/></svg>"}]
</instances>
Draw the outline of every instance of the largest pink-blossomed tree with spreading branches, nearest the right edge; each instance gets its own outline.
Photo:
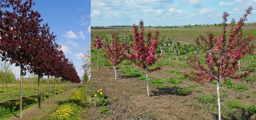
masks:
<instances>
[{"instance_id":1,"label":"largest pink-blossomed tree with spreading branches, nearest the right edge","mask_svg":"<svg viewBox=\"0 0 256 120\"><path fill-rule=\"evenodd\" d=\"M220 37L214 37L211 31L208 31L208 37L203 35L199 36L200 44L207 50L204 57L206 63L202 63L197 56L190 56L187 64L194 69L190 73L183 73L189 80L197 83L208 83L210 81L217 81L217 95L219 107L219 120L220 116L220 89L219 84L221 81L226 81L226 78L240 79L247 77L254 69L247 69L238 71L238 61L248 53L248 50L253 50L253 44L250 44L254 39L254 35L244 37L242 26L247 20L247 15L251 14L252 6L250 6L242 18L240 18L237 26L235 27L235 19L232 19L230 24L230 34L227 34L227 17L229 14L224 12L223 30ZM250 49L249 49L250 48Z\"/></svg>"}]
</instances>

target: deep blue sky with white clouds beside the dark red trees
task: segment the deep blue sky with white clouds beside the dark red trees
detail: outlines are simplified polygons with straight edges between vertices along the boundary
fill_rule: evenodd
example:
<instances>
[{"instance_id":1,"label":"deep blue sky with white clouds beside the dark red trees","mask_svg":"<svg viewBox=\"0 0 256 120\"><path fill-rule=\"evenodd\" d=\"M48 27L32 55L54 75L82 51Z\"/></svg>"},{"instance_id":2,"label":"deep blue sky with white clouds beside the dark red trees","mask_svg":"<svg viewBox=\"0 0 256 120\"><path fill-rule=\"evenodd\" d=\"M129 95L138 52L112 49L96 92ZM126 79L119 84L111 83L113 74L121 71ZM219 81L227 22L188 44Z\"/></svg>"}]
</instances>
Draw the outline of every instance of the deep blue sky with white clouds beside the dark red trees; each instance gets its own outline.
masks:
<instances>
[{"instance_id":1,"label":"deep blue sky with white clouds beside the dark red trees","mask_svg":"<svg viewBox=\"0 0 256 120\"><path fill-rule=\"evenodd\" d=\"M24 1L24 0L23 0ZM34 0L33 10L37 10L43 23L57 36L56 43L62 46L65 56L72 60L81 77L84 46L91 40L91 1L90 0ZM14 67L16 78L20 77L20 67ZM26 75L25 77L28 77Z\"/></svg>"}]
</instances>

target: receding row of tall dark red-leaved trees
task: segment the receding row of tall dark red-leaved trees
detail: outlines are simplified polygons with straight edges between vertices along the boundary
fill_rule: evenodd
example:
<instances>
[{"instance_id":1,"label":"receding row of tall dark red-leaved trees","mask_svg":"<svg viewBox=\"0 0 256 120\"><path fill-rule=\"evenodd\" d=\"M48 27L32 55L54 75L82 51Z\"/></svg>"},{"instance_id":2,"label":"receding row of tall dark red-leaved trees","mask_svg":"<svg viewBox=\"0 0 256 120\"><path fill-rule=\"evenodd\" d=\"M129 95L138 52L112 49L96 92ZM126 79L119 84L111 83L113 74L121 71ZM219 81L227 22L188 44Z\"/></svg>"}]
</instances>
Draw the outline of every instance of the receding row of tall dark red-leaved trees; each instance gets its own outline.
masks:
<instances>
[{"instance_id":1,"label":"receding row of tall dark red-leaved trees","mask_svg":"<svg viewBox=\"0 0 256 120\"><path fill-rule=\"evenodd\" d=\"M22 82L27 72L38 76L38 99L39 81L43 76L80 82L72 61L65 58L60 50L61 46L55 43L56 36L50 32L48 24L41 25L43 19L38 11L32 9L34 4L32 0L26 0L25 3L22 0L0 1L0 55L2 61L20 66L20 118ZM48 80L48 96L49 94ZM50 102L50 97L48 98Z\"/></svg>"}]
</instances>

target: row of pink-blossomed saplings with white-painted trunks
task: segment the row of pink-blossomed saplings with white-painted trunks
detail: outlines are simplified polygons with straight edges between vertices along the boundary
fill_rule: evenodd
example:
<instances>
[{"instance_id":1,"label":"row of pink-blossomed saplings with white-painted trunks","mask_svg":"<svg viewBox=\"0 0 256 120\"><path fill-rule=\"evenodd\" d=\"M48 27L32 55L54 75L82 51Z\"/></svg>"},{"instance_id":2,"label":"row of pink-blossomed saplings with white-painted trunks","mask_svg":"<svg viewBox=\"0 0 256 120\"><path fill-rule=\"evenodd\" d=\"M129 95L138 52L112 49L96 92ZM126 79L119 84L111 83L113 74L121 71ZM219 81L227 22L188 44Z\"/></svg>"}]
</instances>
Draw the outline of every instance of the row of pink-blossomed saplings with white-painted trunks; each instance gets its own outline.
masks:
<instances>
[{"instance_id":1,"label":"row of pink-blossomed saplings with white-painted trunks","mask_svg":"<svg viewBox=\"0 0 256 120\"><path fill-rule=\"evenodd\" d=\"M202 49L205 50L205 63L202 63L197 56L199 53L198 50L196 50L196 55L187 55L187 64L193 69L193 71L182 73L185 77L197 83L207 83L213 80L217 81L219 120L221 119L220 82L225 82L228 77L235 79L245 78L254 71L254 69L239 71L238 65L238 61L244 55L252 53L254 49L254 45L252 44L254 35L244 37L242 31L242 26L245 24L244 22L247 21L246 17L251 14L251 11L252 6L246 10L244 16L240 18L237 23L235 19L232 19L229 35L226 30L228 26L227 17L229 14L224 12L222 15L223 28L219 38L215 37L210 31L208 31L207 37L200 35L196 39L197 47L202 47ZM105 57L109 65L113 65L115 75L115 66L121 63L124 59L130 60L132 63L146 70L147 92L149 97L148 72L160 70L162 68L149 68L152 64L155 64L158 59L156 56L156 49L158 47L160 33L156 31L153 36L151 31L148 31L147 35L145 35L143 25L143 20L140 21L139 26L133 24L133 42L121 42L114 34L111 35L111 41L108 41L108 39L102 40L102 38L98 37L96 34L93 45L96 49L100 49L102 46L104 47L106 52ZM160 44L160 48L161 47L162 46Z\"/></svg>"}]
</instances>

